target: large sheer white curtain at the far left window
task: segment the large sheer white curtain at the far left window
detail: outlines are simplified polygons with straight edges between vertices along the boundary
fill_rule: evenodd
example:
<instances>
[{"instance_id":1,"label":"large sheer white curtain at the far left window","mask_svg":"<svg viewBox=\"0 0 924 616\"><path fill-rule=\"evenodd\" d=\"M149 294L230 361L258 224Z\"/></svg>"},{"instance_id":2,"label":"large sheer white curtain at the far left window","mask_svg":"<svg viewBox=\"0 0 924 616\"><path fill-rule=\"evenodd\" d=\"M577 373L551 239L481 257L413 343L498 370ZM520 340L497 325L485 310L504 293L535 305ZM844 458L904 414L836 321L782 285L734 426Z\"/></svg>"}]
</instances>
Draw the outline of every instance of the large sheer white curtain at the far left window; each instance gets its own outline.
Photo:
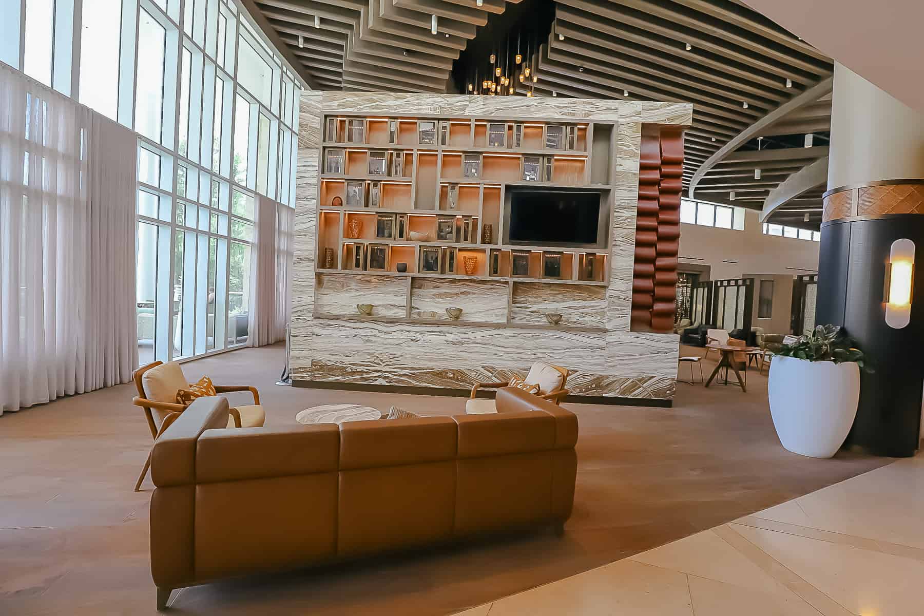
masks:
<instances>
[{"instance_id":1,"label":"large sheer white curtain at the far left window","mask_svg":"<svg viewBox=\"0 0 924 616\"><path fill-rule=\"evenodd\" d=\"M130 380L135 150L0 64L0 414Z\"/></svg>"}]
</instances>

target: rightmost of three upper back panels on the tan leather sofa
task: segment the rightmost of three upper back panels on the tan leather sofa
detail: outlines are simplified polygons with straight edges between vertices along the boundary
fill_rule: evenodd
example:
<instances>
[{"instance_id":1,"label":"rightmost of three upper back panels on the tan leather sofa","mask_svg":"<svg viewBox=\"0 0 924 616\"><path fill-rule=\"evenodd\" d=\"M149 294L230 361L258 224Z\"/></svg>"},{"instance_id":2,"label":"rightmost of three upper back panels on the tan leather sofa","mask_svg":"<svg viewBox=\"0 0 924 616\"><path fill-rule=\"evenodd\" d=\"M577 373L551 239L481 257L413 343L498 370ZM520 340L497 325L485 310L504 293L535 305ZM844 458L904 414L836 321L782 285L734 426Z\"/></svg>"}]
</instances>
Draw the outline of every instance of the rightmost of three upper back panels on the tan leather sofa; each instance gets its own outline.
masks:
<instances>
[{"instance_id":1,"label":"rightmost of three upper back panels on the tan leather sofa","mask_svg":"<svg viewBox=\"0 0 924 616\"><path fill-rule=\"evenodd\" d=\"M534 452L555 446L555 418L543 411L458 415L458 457Z\"/></svg>"}]
</instances>

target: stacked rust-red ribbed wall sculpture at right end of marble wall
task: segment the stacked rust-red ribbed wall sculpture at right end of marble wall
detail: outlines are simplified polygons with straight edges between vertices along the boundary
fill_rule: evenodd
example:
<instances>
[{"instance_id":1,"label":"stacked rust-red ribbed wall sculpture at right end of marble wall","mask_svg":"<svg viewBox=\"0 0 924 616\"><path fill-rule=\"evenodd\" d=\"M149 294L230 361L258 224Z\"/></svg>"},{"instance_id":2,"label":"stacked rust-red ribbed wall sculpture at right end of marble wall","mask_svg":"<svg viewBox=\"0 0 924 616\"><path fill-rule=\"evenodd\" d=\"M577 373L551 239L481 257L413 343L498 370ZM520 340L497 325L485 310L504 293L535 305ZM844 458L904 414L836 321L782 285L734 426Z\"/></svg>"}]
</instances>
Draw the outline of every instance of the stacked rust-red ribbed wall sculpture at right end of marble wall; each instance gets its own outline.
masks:
<instances>
[{"instance_id":1,"label":"stacked rust-red ribbed wall sculpture at right end of marble wall","mask_svg":"<svg viewBox=\"0 0 924 616\"><path fill-rule=\"evenodd\" d=\"M679 131L641 137L631 327L674 329L684 139Z\"/></svg>"}]
</instances>

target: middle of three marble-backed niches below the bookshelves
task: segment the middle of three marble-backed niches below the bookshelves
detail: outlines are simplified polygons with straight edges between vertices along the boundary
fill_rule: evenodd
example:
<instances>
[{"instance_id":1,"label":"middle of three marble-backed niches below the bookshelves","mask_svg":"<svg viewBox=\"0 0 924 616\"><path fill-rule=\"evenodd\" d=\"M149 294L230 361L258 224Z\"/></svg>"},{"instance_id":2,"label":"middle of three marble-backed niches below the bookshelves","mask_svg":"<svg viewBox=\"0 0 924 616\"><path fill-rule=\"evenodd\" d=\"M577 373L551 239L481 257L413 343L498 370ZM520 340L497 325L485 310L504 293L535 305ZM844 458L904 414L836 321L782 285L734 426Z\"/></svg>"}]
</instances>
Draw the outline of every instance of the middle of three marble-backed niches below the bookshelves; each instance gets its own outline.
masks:
<instances>
[{"instance_id":1,"label":"middle of three marble-backed niches below the bookshelves","mask_svg":"<svg viewBox=\"0 0 924 616\"><path fill-rule=\"evenodd\" d=\"M462 308L460 320L505 323L507 286L505 282L415 278L410 290L410 316L449 320L446 308Z\"/></svg>"}]
</instances>

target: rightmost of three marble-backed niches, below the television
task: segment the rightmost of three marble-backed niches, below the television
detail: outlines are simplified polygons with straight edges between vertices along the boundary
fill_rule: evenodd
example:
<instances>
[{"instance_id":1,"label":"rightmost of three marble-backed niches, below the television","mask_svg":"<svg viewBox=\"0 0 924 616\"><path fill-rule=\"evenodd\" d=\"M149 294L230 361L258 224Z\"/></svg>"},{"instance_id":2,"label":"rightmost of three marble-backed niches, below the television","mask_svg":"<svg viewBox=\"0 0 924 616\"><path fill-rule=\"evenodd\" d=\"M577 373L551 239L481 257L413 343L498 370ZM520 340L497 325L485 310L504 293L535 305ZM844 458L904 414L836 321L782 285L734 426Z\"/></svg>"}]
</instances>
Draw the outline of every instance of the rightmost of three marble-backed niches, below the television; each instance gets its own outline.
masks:
<instances>
[{"instance_id":1,"label":"rightmost of three marble-backed niches, below the television","mask_svg":"<svg viewBox=\"0 0 924 616\"><path fill-rule=\"evenodd\" d=\"M514 283L510 321L547 325L545 315L562 315L559 325L602 327L606 321L606 288L589 284Z\"/></svg>"}]
</instances>

